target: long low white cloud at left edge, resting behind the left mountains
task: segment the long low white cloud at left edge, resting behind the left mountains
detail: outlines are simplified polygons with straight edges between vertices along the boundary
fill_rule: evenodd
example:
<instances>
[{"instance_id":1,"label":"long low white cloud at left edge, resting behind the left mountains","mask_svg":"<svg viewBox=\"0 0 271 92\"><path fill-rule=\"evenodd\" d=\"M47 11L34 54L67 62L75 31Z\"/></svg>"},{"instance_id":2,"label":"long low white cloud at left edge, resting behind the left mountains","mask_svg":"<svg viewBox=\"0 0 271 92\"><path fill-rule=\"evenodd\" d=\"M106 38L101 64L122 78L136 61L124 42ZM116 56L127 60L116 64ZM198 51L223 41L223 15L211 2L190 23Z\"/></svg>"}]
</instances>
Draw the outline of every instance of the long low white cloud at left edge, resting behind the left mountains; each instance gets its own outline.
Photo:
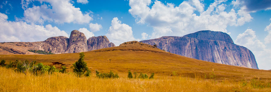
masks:
<instances>
[{"instance_id":1,"label":"long low white cloud at left edge, resting behind the left mountains","mask_svg":"<svg viewBox=\"0 0 271 92\"><path fill-rule=\"evenodd\" d=\"M24 41L34 42L43 41L53 36L66 36L65 31L61 31L52 25L34 25L23 21L7 21L7 15L0 13L0 42Z\"/></svg>"}]
</instances>

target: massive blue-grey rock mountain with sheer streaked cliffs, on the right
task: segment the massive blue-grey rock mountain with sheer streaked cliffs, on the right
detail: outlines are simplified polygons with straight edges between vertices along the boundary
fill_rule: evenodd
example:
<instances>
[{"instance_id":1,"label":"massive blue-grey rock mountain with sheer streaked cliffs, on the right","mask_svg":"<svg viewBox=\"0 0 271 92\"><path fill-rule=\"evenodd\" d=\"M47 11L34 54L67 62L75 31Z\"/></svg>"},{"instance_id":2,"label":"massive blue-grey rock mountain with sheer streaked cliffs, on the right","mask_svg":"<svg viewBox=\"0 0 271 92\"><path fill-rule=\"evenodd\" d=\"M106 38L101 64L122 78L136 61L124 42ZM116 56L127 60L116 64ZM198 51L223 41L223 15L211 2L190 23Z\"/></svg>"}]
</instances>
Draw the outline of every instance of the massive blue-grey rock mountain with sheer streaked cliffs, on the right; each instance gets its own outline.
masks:
<instances>
[{"instance_id":1,"label":"massive blue-grey rock mountain with sheer streaked cliffs, on the right","mask_svg":"<svg viewBox=\"0 0 271 92\"><path fill-rule=\"evenodd\" d=\"M232 38L223 32L205 30L183 37L163 36L140 42L156 44L157 48L193 59L258 69L253 53L234 44Z\"/></svg>"}]
</instances>

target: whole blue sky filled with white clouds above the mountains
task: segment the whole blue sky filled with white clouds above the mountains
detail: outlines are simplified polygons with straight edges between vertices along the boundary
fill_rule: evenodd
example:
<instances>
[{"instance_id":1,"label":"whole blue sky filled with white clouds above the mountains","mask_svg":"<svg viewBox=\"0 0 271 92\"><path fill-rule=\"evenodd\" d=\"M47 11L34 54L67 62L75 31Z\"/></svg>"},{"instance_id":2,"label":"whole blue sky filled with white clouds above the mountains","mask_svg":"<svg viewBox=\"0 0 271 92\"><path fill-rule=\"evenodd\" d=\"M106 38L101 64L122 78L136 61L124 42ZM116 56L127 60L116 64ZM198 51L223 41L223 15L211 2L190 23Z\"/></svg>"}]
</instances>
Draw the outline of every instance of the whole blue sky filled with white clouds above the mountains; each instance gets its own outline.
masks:
<instances>
[{"instance_id":1,"label":"whole blue sky filled with white clouds above the mountains","mask_svg":"<svg viewBox=\"0 0 271 92\"><path fill-rule=\"evenodd\" d=\"M107 36L131 40L184 36L200 30L228 33L251 50L259 69L271 65L271 0L0 0L0 42Z\"/></svg>"}]
</instances>

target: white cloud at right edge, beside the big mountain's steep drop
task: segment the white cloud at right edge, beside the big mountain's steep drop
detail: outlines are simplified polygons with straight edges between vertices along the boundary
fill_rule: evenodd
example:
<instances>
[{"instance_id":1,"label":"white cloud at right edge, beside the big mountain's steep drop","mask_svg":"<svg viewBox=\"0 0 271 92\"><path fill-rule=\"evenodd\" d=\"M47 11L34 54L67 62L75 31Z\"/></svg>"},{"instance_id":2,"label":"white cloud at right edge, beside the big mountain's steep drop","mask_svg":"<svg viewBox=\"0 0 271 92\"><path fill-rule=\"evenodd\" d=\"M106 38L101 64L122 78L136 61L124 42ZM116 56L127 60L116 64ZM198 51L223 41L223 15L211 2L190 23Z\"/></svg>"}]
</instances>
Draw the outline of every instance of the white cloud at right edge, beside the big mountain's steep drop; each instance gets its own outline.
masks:
<instances>
[{"instance_id":1,"label":"white cloud at right edge, beside the big mountain's steep drop","mask_svg":"<svg viewBox=\"0 0 271 92\"><path fill-rule=\"evenodd\" d=\"M271 65L271 49L257 39L255 31L247 29L244 33L237 36L236 44L248 48L253 52L259 69L269 70Z\"/></svg>"}]
</instances>

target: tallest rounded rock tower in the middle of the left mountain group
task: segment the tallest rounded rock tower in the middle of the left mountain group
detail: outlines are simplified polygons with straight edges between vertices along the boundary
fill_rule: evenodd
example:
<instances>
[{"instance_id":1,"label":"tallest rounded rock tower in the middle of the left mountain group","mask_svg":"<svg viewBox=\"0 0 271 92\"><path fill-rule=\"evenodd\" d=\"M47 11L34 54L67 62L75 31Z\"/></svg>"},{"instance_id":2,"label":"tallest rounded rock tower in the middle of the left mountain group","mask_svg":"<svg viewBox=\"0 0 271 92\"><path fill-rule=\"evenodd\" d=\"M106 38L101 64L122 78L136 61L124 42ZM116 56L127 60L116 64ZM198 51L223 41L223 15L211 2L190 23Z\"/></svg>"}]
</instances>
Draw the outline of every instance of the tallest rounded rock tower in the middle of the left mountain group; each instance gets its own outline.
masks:
<instances>
[{"instance_id":1,"label":"tallest rounded rock tower in the middle of the left mountain group","mask_svg":"<svg viewBox=\"0 0 271 92\"><path fill-rule=\"evenodd\" d=\"M87 38L78 30L71 31L66 53L87 52Z\"/></svg>"}]
</instances>

